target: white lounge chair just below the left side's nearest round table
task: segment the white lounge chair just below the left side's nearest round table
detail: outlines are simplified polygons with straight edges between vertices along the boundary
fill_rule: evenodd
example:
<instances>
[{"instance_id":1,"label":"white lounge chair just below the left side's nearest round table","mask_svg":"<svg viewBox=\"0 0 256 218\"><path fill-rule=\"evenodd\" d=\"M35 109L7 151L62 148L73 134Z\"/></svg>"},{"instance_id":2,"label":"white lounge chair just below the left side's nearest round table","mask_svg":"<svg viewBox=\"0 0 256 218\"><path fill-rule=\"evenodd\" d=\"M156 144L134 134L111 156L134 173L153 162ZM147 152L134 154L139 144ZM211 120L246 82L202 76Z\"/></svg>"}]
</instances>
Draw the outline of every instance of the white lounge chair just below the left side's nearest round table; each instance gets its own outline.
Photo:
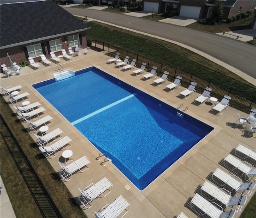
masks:
<instances>
[{"instance_id":1,"label":"white lounge chair just below the left side's nearest round table","mask_svg":"<svg viewBox=\"0 0 256 218\"><path fill-rule=\"evenodd\" d=\"M60 176L60 178L69 181L71 179L71 176L77 171L80 171L82 173L88 170L90 168L90 164L91 162L86 156L80 157L79 159L66 166L59 162L61 169L58 171L58 175ZM84 170L82 170L83 168Z\"/></svg>"}]
</instances>

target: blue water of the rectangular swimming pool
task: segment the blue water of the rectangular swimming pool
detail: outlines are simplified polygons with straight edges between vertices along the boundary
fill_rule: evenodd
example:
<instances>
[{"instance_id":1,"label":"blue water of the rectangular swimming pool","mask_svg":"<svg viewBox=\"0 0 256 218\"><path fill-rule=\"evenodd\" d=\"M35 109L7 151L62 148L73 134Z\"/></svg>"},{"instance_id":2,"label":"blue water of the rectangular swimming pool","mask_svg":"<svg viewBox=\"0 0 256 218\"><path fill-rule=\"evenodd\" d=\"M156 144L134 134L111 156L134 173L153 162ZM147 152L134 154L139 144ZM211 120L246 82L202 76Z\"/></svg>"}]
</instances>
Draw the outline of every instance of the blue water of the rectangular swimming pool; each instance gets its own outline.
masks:
<instances>
[{"instance_id":1,"label":"blue water of the rectangular swimming pool","mask_svg":"<svg viewBox=\"0 0 256 218\"><path fill-rule=\"evenodd\" d=\"M33 86L140 190L213 130L95 67Z\"/></svg>"}]
</instances>

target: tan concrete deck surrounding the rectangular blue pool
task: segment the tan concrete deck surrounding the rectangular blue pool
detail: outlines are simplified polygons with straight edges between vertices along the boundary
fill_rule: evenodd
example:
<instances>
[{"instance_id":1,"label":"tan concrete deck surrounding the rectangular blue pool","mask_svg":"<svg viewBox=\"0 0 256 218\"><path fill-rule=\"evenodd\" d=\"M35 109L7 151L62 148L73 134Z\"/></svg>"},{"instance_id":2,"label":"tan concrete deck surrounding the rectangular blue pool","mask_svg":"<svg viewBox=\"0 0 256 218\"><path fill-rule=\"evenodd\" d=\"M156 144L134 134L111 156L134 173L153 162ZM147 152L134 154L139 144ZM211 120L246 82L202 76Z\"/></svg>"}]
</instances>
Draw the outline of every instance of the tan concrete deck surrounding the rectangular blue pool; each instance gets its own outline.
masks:
<instances>
[{"instance_id":1,"label":"tan concrete deck surrounding the rectangular blue pool","mask_svg":"<svg viewBox=\"0 0 256 218\"><path fill-rule=\"evenodd\" d=\"M139 191L118 169L116 169L116 167L114 167L114 165L112 165L112 163L106 162L105 166L101 165L104 161L104 157L101 157L100 161L96 160L100 154L98 149L32 88L31 84L33 83L52 79L53 73L56 73L58 69L56 64L52 63L52 65L48 67L40 64L41 68L38 70L24 67L20 76L10 76L7 78L1 74L1 86L8 87L20 84L23 87L22 92L30 93L30 102L39 101L42 106L46 108L46 114L53 117L53 124L49 126L49 130L60 128L63 130L64 136L67 135L73 140L70 149L73 151L75 159L86 155L90 160L90 169L84 173L72 175L71 180L65 182L66 187L73 196L79 194L78 187L84 189L86 186L91 183L96 183L103 177L107 177L113 184L112 192L104 198L94 200L93 206L90 209L84 210L85 214L88 217L95 217L95 210L99 211L103 206L111 203L119 195L122 195L130 202L130 209L124 216L127 218L174 217L180 214L180 212L184 212L188 217L197 217L196 214L184 205L190 197L195 195L198 185L202 185L204 181L207 180L206 177L211 172L214 172L216 168L223 169L228 173L228 171L218 163L239 144L250 149L255 149L255 138L244 135L240 128L242 125L239 125L238 128L234 127L234 122L238 119L238 113L240 113L241 117L247 117L248 114L229 107L228 110L225 110L220 116L213 115L209 113L212 106L207 104L196 106L192 104L199 93L182 100L177 96L184 87L180 87L173 92L166 92L166 90L163 90L166 84L153 86L153 79L143 81L142 76L139 75L136 77L131 75L132 70L122 71L121 68L116 68L113 64L106 63L109 56L102 52L90 49L87 55L84 55L83 52L81 53L82 55L73 57L71 61L62 60L60 64L64 69L70 69L72 71L91 66L98 67L176 108L183 103L183 108L188 106L187 114L215 128L214 131L197 143L190 151L176 161L176 163L170 166L162 175L146 187L146 189ZM150 69L148 70L150 71ZM72 95L74 93L70 94ZM7 99L8 97L6 96L4 98ZM16 105L20 106L21 102ZM11 108L13 109L12 106ZM23 124L27 127L25 122ZM31 136L35 139L32 134ZM40 153L39 149L38 153ZM49 159L49 162L56 172L60 169L58 161L61 159L62 150L56 153L55 158ZM252 195L254 192L255 190L253 190ZM249 202L252 195L248 197L246 204ZM242 210L244 208L245 205L242 207ZM226 210L229 210L229 208L226 208ZM239 217L240 214L241 212L238 212L235 217Z\"/></svg>"}]
</instances>

